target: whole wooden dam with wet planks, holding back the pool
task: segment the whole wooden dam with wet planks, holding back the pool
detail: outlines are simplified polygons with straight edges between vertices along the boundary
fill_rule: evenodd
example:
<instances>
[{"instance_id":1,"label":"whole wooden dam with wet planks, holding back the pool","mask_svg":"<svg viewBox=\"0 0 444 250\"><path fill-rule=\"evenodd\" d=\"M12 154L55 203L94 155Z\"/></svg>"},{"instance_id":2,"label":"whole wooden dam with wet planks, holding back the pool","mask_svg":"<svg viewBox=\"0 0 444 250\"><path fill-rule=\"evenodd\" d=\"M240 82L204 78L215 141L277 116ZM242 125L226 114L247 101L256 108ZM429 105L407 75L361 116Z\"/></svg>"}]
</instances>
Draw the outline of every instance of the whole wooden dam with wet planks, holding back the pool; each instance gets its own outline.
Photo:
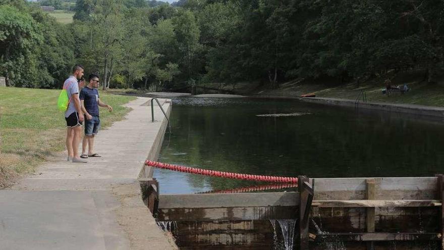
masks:
<instances>
[{"instance_id":1,"label":"whole wooden dam with wet planks, holding back the pool","mask_svg":"<svg viewBox=\"0 0 444 250\"><path fill-rule=\"evenodd\" d=\"M294 191L176 195L152 174L139 175L144 203L174 222L180 249L273 249L283 235L272 222L291 219L293 249L444 249L443 175L299 176Z\"/></svg>"}]
</instances>

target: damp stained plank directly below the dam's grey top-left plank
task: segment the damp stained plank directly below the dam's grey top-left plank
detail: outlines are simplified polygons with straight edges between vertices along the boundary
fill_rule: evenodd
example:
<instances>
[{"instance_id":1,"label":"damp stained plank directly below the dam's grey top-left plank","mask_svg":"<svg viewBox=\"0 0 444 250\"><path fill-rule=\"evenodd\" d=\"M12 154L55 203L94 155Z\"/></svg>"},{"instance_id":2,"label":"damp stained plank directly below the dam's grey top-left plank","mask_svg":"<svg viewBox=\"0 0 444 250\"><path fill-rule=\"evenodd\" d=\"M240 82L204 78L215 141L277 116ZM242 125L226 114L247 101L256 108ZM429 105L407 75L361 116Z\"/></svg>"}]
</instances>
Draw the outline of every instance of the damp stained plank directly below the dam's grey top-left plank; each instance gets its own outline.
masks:
<instances>
[{"instance_id":1,"label":"damp stained plank directly below the dam's grey top-left plank","mask_svg":"<svg viewBox=\"0 0 444 250\"><path fill-rule=\"evenodd\" d=\"M231 221L296 219L297 207L232 207L159 209L159 221Z\"/></svg>"}]
</instances>

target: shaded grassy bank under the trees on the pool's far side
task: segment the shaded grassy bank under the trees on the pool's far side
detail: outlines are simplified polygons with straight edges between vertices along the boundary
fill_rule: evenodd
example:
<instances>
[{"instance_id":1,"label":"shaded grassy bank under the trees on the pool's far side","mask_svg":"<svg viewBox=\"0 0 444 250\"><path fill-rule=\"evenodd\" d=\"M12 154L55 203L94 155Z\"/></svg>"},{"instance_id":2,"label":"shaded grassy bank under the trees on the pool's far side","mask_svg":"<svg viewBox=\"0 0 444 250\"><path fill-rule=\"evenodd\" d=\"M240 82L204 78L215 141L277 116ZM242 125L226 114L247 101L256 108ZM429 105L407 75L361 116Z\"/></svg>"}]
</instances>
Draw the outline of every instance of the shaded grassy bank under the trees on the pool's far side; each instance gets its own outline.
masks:
<instances>
[{"instance_id":1,"label":"shaded grassy bank under the trees on the pool's far side","mask_svg":"<svg viewBox=\"0 0 444 250\"><path fill-rule=\"evenodd\" d=\"M326 82L312 82L297 79L290 82L281 83L278 89L270 89L267 85L258 83L240 83L237 84L235 92L246 95L279 95L279 96L300 96L306 93L315 93L316 97L329 97L355 100L361 90L365 91L368 102L394 103L394 104L414 104L444 107L444 78L438 80L438 83L428 84L422 81L422 76L408 75L397 76L393 85L399 85L400 88L406 83L410 91L402 94L401 92L392 92L390 96L382 93L385 88L384 79L374 79L357 87L355 84L335 84ZM210 83L206 86L217 88L217 84ZM224 86L223 89L232 90L231 85Z\"/></svg>"}]
</instances>

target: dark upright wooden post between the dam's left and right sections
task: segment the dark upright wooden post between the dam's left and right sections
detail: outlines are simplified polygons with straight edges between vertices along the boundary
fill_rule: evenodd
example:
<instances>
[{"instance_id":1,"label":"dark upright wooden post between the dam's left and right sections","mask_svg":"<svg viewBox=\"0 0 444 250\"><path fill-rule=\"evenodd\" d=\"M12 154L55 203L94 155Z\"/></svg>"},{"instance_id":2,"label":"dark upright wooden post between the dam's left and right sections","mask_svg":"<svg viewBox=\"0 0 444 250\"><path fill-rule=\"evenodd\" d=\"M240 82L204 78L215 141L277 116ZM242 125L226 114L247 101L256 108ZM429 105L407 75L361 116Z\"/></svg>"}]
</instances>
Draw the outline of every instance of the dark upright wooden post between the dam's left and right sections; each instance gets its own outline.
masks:
<instances>
[{"instance_id":1,"label":"dark upright wooden post between the dam's left and right sections","mask_svg":"<svg viewBox=\"0 0 444 250\"><path fill-rule=\"evenodd\" d=\"M314 182L314 180L313 180ZM314 183L313 183L314 185ZM305 176L298 176L299 189L299 249L309 249L309 216L311 209L311 202L313 201L313 186L310 184L310 179Z\"/></svg>"}]
</instances>

